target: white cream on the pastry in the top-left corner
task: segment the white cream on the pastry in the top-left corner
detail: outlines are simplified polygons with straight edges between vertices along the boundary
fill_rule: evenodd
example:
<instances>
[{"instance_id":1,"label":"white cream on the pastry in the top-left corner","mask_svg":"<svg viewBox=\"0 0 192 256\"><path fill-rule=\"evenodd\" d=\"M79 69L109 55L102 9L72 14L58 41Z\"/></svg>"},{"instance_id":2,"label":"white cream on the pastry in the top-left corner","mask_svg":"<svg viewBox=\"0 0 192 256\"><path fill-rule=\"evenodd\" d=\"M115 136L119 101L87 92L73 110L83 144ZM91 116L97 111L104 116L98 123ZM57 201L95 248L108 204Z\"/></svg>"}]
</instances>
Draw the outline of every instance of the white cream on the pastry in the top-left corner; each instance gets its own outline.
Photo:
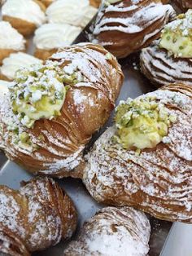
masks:
<instances>
[{"instance_id":1,"label":"white cream on the pastry in the top-left corner","mask_svg":"<svg viewBox=\"0 0 192 256\"><path fill-rule=\"evenodd\" d=\"M7 0L2 6L2 16L7 15L26 20L37 27L46 22L46 15L33 0Z\"/></svg>"}]
</instances>

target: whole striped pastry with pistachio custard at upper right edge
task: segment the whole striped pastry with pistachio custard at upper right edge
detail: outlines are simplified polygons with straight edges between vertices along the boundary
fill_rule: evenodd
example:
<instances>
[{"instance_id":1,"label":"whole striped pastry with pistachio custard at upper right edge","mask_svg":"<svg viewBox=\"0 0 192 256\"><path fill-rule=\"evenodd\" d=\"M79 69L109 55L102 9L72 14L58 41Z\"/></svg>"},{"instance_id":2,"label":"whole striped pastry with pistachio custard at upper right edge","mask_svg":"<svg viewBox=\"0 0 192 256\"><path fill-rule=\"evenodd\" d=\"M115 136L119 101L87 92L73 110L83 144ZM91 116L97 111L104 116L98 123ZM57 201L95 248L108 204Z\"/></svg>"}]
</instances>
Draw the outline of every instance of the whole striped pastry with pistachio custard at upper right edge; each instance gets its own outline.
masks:
<instances>
[{"instance_id":1,"label":"whole striped pastry with pistachio custard at upper right edge","mask_svg":"<svg viewBox=\"0 0 192 256\"><path fill-rule=\"evenodd\" d=\"M155 86L184 83L192 86L192 10L164 27L159 41L142 50L142 73Z\"/></svg>"}]
</instances>

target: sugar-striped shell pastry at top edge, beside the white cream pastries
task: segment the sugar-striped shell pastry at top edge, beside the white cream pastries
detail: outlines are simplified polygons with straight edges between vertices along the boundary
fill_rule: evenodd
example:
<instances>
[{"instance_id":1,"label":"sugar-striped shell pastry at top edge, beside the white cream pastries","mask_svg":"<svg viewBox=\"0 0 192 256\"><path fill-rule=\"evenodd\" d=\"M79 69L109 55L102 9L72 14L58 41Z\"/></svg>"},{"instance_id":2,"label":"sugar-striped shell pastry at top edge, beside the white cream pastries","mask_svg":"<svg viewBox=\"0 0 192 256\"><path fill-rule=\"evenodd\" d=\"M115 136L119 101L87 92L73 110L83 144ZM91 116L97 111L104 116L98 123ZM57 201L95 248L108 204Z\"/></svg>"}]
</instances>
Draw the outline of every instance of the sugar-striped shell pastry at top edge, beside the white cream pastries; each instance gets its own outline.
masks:
<instances>
[{"instance_id":1,"label":"sugar-striped shell pastry at top edge, beside the white cream pastries","mask_svg":"<svg viewBox=\"0 0 192 256\"><path fill-rule=\"evenodd\" d=\"M90 40L124 58L159 38L174 15L173 8L160 0L103 1Z\"/></svg>"}]
</instances>

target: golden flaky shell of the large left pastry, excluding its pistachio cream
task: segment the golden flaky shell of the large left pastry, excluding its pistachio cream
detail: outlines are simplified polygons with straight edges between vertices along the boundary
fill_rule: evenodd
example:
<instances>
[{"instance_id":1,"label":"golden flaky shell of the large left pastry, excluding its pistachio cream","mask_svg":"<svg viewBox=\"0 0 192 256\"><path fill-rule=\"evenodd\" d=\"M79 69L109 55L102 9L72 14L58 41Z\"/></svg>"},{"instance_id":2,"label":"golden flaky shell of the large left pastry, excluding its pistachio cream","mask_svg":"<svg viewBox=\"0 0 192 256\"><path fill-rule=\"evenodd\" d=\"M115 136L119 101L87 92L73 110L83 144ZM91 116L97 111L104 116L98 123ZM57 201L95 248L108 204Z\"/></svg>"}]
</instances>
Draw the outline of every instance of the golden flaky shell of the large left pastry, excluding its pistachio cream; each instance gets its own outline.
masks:
<instances>
[{"instance_id":1,"label":"golden flaky shell of the large left pastry, excluding its pistachio cream","mask_svg":"<svg viewBox=\"0 0 192 256\"><path fill-rule=\"evenodd\" d=\"M81 164L85 144L107 121L123 82L120 65L109 55L102 46L90 43L53 55L47 64L53 62L69 74L78 69L82 82L68 88L59 117L37 120L31 129L12 112L8 94L0 110L7 157L33 173L76 176L73 169ZM36 147L20 147L13 126L18 127L16 134L27 132Z\"/></svg>"}]
</instances>

